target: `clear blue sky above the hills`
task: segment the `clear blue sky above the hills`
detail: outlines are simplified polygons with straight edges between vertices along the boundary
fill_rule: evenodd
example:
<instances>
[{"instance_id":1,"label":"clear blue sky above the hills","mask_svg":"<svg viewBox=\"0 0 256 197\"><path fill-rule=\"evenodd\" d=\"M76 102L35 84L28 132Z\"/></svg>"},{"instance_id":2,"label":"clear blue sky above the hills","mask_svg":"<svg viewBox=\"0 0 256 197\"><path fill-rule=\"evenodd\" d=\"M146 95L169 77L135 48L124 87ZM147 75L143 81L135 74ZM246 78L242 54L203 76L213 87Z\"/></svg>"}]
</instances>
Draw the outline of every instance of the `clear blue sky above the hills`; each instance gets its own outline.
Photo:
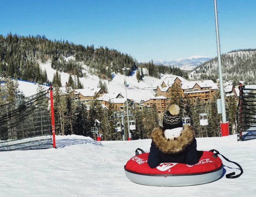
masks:
<instances>
[{"instance_id":1,"label":"clear blue sky above the hills","mask_svg":"<svg viewBox=\"0 0 256 197\"><path fill-rule=\"evenodd\" d=\"M0 34L107 46L138 61L217 56L213 0L0 0ZM221 52L256 48L256 1L217 0Z\"/></svg>"}]
</instances>

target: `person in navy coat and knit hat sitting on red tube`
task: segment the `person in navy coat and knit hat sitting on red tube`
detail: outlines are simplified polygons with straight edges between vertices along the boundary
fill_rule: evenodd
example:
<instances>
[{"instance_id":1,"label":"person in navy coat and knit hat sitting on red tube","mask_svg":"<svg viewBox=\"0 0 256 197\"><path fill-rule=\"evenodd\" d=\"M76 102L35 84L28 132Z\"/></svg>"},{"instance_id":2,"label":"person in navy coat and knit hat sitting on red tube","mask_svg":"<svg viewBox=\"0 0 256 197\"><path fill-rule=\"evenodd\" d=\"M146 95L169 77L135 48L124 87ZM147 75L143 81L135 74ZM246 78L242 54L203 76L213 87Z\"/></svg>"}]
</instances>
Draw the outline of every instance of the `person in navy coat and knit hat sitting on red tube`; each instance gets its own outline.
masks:
<instances>
[{"instance_id":1,"label":"person in navy coat and knit hat sitting on red tube","mask_svg":"<svg viewBox=\"0 0 256 197\"><path fill-rule=\"evenodd\" d=\"M161 163L185 163L194 165L198 162L197 144L193 128L182 124L180 108L173 104L165 112L163 127L155 127L151 133L151 147L147 163L155 168Z\"/></svg>"}]
</instances>

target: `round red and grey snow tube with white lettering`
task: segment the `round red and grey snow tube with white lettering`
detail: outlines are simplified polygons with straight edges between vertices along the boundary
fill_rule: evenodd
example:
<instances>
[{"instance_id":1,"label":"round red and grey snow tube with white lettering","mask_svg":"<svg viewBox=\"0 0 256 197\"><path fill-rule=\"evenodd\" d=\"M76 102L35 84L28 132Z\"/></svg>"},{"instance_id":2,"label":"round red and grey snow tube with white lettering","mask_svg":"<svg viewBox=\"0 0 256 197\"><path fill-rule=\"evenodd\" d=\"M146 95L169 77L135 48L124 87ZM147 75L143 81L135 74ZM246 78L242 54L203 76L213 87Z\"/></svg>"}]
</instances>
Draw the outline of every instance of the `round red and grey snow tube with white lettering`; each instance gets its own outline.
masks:
<instances>
[{"instance_id":1,"label":"round red and grey snow tube with white lettering","mask_svg":"<svg viewBox=\"0 0 256 197\"><path fill-rule=\"evenodd\" d=\"M149 153L132 157L124 166L127 178L138 184L151 186L186 186L209 183L220 178L222 160L210 151L198 151L198 163L161 163L156 168L147 164Z\"/></svg>"}]
</instances>

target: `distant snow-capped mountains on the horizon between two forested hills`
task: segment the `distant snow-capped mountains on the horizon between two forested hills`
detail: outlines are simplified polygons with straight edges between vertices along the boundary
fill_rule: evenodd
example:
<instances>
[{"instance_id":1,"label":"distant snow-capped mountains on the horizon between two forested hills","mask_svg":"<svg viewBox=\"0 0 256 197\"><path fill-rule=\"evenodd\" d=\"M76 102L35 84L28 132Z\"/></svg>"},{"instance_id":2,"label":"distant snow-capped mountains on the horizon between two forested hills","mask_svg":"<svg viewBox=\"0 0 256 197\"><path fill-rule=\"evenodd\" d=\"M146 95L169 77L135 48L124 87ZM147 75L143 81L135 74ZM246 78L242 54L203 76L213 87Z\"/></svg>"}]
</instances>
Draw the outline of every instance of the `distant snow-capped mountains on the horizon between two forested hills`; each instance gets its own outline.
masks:
<instances>
[{"instance_id":1,"label":"distant snow-capped mountains on the horizon between two forested hills","mask_svg":"<svg viewBox=\"0 0 256 197\"><path fill-rule=\"evenodd\" d=\"M191 56L189 58L184 58L184 59L177 59L174 61L154 61L154 64L156 65L165 65L165 66L171 66L171 67L179 67L181 70L190 70L192 71L195 67L203 64L206 61L209 61L211 58L207 56Z\"/></svg>"}]
</instances>

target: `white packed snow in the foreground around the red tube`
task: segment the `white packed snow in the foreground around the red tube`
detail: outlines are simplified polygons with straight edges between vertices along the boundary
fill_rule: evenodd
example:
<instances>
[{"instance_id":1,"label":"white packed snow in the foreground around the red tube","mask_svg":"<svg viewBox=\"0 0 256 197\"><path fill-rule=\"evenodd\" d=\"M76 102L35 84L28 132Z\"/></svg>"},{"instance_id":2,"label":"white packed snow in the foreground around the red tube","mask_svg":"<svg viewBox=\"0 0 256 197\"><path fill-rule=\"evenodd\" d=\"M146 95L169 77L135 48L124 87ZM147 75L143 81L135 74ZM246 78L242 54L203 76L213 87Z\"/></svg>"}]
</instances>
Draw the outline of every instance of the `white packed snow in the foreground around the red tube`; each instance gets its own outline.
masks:
<instances>
[{"instance_id":1,"label":"white packed snow in the foreground around the red tube","mask_svg":"<svg viewBox=\"0 0 256 197\"><path fill-rule=\"evenodd\" d=\"M57 136L59 148L0 152L1 197L205 197L255 196L255 140L237 142L236 135L197 138L198 150L217 149L238 162L244 173L236 179L195 186L154 187L131 182L124 165L150 139L96 142L83 136ZM65 142L65 143L64 143ZM65 144L65 145L63 145ZM224 172L240 171L223 159Z\"/></svg>"}]
</instances>

